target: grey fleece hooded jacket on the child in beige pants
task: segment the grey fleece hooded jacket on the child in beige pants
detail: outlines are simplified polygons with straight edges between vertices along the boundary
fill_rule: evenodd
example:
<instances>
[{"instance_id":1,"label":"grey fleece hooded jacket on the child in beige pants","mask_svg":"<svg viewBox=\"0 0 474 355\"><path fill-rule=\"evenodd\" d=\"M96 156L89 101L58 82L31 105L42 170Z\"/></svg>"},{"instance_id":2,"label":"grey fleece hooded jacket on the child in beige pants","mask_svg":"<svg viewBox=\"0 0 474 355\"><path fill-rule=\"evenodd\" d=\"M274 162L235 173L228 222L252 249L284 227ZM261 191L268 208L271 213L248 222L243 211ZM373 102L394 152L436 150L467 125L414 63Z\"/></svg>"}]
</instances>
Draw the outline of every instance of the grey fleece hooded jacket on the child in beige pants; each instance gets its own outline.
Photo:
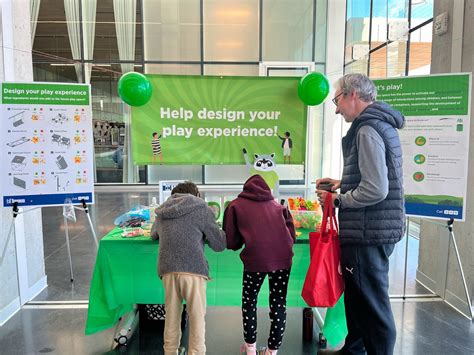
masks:
<instances>
[{"instance_id":1,"label":"grey fleece hooded jacket on the child in beige pants","mask_svg":"<svg viewBox=\"0 0 474 355\"><path fill-rule=\"evenodd\" d=\"M151 237L160 241L158 275L185 272L209 277L204 242L223 251L226 238L207 203L190 194L173 194L155 213Z\"/></svg>"}]
</instances>

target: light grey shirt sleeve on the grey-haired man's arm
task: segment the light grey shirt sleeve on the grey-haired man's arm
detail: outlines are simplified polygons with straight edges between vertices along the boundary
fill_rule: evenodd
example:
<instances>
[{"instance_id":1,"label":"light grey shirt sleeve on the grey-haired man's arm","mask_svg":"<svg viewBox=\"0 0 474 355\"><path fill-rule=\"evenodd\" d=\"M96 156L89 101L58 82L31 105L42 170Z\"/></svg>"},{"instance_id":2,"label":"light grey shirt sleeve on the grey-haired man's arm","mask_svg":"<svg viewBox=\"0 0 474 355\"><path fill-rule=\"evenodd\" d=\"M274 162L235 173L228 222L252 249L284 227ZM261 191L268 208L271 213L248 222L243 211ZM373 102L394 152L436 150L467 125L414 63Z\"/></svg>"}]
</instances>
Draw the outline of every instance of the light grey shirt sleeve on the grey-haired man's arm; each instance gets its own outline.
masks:
<instances>
[{"instance_id":1,"label":"light grey shirt sleeve on the grey-haired man's arm","mask_svg":"<svg viewBox=\"0 0 474 355\"><path fill-rule=\"evenodd\" d=\"M354 190L340 195L342 208L375 205L388 194L388 168L382 137L374 128L362 126L356 141L361 180Z\"/></svg>"}]
</instances>

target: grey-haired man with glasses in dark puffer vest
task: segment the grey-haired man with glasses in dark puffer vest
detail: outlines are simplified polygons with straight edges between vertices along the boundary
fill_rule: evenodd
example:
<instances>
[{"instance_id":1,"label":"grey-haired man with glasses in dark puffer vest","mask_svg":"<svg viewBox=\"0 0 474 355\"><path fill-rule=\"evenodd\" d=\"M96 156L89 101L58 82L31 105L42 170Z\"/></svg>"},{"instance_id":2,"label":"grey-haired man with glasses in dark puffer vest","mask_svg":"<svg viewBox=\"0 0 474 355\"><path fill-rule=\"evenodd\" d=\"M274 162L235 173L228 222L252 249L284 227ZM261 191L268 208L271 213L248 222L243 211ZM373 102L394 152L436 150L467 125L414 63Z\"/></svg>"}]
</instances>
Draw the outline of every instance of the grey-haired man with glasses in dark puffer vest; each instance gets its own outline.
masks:
<instances>
[{"instance_id":1,"label":"grey-haired man with glasses in dark puffer vest","mask_svg":"<svg viewBox=\"0 0 474 355\"><path fill-rule=\"evenodd\" d=\"M331 194L339 209L341 269L348 335L341 350L321 354L393 354L396 328L388 295L389 256L404 234L403 115L375 101L377 89L362 74L336 84L336 113L351 123L342 139L341 180L316 181L321 202ZM331 192L319 189L332 183ZM336 190L340 192L337 193Z\"/></svg>"}]
</instances>

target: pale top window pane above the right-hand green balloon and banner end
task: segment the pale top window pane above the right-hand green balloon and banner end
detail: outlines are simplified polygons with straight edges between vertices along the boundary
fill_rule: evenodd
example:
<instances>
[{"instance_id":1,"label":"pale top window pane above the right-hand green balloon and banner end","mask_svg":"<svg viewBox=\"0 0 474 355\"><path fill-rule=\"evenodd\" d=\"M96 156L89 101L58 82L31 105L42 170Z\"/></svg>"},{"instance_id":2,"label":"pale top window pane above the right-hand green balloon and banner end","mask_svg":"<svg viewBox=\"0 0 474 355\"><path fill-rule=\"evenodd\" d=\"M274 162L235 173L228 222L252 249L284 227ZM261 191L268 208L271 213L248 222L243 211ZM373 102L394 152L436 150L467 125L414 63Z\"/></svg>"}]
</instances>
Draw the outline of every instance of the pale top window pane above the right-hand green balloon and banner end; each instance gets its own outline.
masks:
<instances>
[{"instance_id":1,"label":"pale top window pane above the right-hand green balloon and banner end","mask_svg":"<svg viewBox=\"0 0 474 355\"><path fill-rule=\"evenodd\" d=\"M263 2L264 61L310 61L313 50L313 0Z\"/></svg>"}]
</instances>

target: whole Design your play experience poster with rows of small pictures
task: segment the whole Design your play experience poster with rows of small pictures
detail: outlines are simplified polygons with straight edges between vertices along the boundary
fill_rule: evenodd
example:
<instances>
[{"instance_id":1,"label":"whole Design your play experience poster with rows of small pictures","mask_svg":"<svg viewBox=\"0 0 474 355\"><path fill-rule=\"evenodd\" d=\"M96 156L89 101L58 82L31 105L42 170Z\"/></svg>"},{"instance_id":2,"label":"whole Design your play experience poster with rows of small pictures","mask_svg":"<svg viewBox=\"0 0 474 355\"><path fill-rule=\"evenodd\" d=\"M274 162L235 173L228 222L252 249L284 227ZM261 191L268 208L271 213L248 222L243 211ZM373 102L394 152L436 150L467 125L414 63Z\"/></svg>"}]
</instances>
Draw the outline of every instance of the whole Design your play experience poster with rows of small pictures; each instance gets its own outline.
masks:
<instances>
[{"instance_id":1,"label":"whole Design your play experience poster with rows of small pictures","mask_svg":"<svg viewBox=\"0 0 474 355\"><path fill-rule=\"evenodd\" d=\"M90 85L1 83L3 207L94 203Z\"/></svg>"}]
</instances>

